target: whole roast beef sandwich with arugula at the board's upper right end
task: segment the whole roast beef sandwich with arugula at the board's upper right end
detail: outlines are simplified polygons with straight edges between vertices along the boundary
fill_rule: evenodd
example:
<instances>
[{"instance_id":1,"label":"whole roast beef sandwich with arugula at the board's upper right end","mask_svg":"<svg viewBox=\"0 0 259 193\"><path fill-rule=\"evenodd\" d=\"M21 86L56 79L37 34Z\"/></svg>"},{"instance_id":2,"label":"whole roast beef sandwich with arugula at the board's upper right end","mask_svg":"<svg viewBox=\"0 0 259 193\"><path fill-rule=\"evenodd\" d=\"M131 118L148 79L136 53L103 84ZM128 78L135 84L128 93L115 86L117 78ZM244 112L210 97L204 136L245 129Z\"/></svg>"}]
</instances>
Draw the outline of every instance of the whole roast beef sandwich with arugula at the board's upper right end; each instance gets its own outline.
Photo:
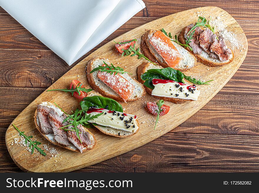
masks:
<instances>
[{"instance_id":1,"label":"whole roast beef sandwich with arugula at the board's upper right end","mask_svg":"<svg viewBox=\"0 0 259 193\"><path fill-rule=\"evenodd\" d=\"M199 17L195 24L183 28L180 43L191 52L200 63L207 66L223 66L234 59L233 51L226 45L225 39L215 33L214 27L207 20Z\"/></svg>"}]
</instances>

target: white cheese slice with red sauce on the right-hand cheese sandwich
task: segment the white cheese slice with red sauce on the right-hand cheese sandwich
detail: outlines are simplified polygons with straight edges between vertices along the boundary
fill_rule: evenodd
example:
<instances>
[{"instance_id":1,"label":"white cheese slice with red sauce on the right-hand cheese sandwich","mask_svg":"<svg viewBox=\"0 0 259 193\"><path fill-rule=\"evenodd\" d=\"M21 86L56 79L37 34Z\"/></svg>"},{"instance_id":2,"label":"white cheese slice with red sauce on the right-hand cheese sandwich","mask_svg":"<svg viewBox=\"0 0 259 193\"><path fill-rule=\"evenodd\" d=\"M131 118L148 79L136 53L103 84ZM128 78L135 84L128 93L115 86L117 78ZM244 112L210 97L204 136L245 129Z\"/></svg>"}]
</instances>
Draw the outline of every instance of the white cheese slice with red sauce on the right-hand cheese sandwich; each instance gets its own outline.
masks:
<instances>
[{"instance_id":1,"label":"white cheese slice with red sauce on the right-hand cheese sandwich","mask_svg":"<svg viewBox=\"0 0 259 193\"><path fill-rule=\"evenodd\" d=\"M200 95L200 90L197 90L196 87L177 83L173 80L160 81L160 79L153 79L153 85L155 88L151 94L155 96L197 100ZM191 88L191 90L189 90L189 88Z\"/></svg>"}]
</instances>

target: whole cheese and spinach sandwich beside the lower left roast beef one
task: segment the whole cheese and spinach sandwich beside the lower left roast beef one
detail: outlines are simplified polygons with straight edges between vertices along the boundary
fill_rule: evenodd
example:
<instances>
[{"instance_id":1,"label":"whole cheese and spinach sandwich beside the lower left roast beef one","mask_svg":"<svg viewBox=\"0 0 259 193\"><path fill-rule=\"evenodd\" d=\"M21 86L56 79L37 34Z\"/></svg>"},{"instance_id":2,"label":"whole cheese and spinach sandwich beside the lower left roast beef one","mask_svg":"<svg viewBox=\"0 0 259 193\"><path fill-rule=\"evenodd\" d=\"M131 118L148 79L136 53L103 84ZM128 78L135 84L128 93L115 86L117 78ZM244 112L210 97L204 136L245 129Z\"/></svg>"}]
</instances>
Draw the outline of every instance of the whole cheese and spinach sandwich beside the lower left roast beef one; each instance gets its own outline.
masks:
<instances>
[{"instance_id":1,"label":"whole cheese and spinach sandwich beside the lower left roast beef one","mask_svg":"<svg viewBox=\"0 0 259 193\"><path fill-rule=\"evenodd\" d=\"M103 97L99 93L90 93L80 102L80 106L91 117L101 114L88 122L107 135L129 137L140 128L136 115L123 112L122 105L116 100Z\"/></svg>"}]
</instances>

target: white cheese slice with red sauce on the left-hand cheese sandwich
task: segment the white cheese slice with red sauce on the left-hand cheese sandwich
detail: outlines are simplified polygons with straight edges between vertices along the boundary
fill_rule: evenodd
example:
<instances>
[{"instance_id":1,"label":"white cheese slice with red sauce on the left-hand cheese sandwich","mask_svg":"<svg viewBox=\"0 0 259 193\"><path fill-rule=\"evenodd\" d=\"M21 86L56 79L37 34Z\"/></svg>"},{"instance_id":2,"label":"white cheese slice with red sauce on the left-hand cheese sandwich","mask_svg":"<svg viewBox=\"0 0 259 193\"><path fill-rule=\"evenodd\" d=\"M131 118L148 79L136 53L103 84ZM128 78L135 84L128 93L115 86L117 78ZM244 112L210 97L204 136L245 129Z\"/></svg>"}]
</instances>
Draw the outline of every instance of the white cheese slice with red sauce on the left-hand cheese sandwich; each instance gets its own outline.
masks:
<instances>
[{"instance_id":1,"label":"white cheese slice with red sauce on the left-hand cheese sandwich","mask_svg":"<svg viewBox=\"0 0 259 193\"><path fill-rule=\"evenodd\" d=\"M123 130L127 132L136 132L138 129L137 116L121 113L117 111L110 111L107 109L92 108L87 111L87 114L97 115L104 112L102 115L89 120L88 122L96 123L105 127L112 127L117 130ZM114 112L114 113L113 113ZM123 119L122 119L123 118ZM126 122L125 122L126 121Z\"/></svg>"}]
</instances>

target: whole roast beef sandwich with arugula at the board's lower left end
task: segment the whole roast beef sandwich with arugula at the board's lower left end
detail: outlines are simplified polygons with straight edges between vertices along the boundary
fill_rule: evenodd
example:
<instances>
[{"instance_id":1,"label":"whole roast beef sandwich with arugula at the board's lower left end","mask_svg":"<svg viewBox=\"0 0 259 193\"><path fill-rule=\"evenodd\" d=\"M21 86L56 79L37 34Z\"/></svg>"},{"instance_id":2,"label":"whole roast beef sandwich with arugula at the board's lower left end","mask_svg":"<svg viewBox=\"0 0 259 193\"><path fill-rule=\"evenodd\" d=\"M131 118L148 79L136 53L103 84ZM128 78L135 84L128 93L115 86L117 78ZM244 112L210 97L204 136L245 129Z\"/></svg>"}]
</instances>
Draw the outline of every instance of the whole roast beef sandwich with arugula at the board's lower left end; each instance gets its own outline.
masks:
<instances>
[{"instance_id":1,"label":"whole roast beef sandwich with arugula at the board's lower left end","mask_svg":"<svg viewBox=\"0 0 259 193\"><path fill-rule=\"evenodd\" d=\"M77 124L75 129L68 115L50 102L37 105L34 122L39 132L54 145L82 153L96 144L94 135L86 127Z\"/></svg>"}]
</instances>

